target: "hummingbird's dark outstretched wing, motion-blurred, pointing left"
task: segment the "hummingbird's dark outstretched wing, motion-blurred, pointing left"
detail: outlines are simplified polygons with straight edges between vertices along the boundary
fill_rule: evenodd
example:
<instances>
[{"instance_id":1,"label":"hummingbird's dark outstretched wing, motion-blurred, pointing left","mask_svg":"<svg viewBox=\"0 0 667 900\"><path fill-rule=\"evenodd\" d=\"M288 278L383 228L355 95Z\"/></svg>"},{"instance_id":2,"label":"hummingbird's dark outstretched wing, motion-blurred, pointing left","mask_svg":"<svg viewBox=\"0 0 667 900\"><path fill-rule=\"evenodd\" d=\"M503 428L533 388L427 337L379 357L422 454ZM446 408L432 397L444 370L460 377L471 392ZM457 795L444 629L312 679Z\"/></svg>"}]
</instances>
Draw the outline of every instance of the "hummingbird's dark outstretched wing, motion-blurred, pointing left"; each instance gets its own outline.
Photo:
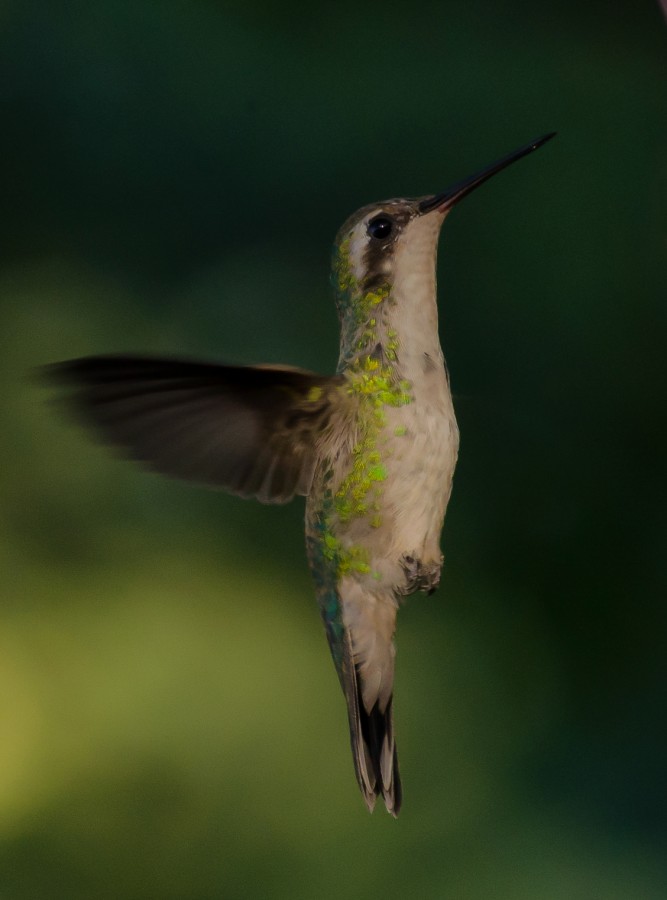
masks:
<instances>
[{"instance_id":1,"label":"hummingbird's dark outstretched wing, motion-blurred, pointing left","mask_svg":"<svg viewBox=\"0 0 667 900\"><path fill-rule=\"evenodd\" d=\"M93 356L50 381L108 443L146 466L264 503L307 494L339 377L302 369Z\"/></svg>"}]
</instances>

